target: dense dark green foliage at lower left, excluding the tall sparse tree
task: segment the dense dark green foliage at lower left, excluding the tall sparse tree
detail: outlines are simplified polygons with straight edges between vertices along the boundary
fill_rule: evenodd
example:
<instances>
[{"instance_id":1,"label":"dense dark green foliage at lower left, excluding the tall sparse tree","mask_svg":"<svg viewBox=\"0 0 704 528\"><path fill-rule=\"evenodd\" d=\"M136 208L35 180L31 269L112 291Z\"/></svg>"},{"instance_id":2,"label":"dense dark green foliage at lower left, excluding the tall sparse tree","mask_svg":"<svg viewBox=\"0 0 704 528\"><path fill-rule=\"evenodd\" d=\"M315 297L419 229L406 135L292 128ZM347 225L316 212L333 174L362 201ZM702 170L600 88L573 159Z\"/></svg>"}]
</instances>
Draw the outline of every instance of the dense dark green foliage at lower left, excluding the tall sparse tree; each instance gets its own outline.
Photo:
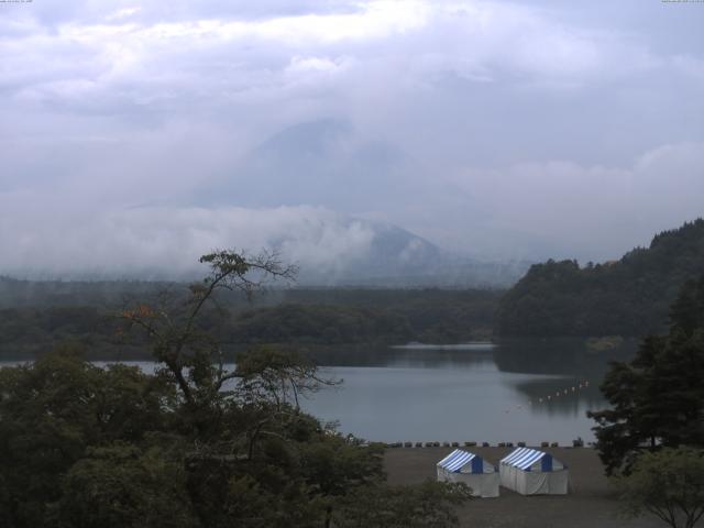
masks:
<instances>
[{"instance_id":1,"label":"dense dark green foliage at lower left, excluding the tall sparse tree","mask_svg":"<svg viewBox=\"0 0 704 528\"><path fill-rule=\"evenodd\" d=\"M323 526L362 515L360 486L392 493L378 447L244 385L196 420L168 376L72 351L0 370L2 526Z\"/></svg>"}]
</instances>

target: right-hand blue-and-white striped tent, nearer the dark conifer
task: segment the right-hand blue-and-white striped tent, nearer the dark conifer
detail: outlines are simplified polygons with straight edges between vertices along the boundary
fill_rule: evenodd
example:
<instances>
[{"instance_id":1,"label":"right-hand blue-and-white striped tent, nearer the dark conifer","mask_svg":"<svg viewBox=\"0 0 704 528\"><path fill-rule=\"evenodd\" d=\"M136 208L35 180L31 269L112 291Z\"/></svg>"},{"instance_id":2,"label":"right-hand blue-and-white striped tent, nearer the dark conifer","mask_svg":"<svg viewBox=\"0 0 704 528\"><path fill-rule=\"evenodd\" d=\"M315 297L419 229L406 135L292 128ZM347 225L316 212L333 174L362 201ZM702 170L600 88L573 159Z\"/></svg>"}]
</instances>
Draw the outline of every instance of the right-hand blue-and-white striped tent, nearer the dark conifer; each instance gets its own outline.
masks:
<instances>
[{"instance_id":1,"label":"right-hand blue-and-white striped tent, nearer the dark conifer","mask_svg":"<svg viewBox=\"0 0 704 528\"><path fill-rule=\"evenodd\" d=\"M521 495L565 495L568 468L550 453L518 448L499 463L502 486Z\"/></svg>"}]
</instances>

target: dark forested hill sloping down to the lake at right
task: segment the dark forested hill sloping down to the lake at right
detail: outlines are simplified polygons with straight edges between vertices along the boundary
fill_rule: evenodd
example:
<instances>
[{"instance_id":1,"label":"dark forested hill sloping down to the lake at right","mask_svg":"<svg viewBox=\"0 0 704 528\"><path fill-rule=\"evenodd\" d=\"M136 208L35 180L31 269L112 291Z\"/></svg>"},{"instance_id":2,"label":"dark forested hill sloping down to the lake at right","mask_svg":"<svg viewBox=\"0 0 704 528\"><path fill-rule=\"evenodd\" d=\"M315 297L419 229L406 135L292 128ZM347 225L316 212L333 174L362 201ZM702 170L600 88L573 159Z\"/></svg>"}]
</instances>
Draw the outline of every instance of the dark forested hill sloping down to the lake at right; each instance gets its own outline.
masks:
<instances>
[{"instance_id":1,"label":"dark forested hill sloping down to the lake at right","mask_svg":"<svg viewBox=\"0 0 704 528\"><path fill-rule=\"evenodd\" d=\"M661 332L679 288L704 271L704 220L657 234L620 261L534 265L499 302L499 336L641 337Z\"/></svg>"}]
</instances>

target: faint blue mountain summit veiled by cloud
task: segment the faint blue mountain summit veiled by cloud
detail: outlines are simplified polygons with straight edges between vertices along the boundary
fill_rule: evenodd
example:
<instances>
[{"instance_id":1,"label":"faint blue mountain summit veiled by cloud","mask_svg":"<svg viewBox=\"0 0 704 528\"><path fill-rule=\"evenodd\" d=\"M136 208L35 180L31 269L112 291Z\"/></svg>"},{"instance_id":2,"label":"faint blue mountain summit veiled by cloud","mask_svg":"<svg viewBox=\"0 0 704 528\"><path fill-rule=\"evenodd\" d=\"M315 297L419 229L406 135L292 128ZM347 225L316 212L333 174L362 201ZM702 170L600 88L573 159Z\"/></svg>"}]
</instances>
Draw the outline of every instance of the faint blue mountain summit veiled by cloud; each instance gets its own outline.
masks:
<instances>
[{"instance_id":1,"label":"faint blue mountain summit veiled by cloud","mask_svg":"<svg viewBox=\"0 0 704 528\"><path fill-rule=\"evenodd\" d=\"M321 119L275 133L200 199L217 206L322 206L353 215L391 211L422 195L419 178L410 177L418 169L392 143L364 139L346 120Z\"/></svg>"}]
</instances>

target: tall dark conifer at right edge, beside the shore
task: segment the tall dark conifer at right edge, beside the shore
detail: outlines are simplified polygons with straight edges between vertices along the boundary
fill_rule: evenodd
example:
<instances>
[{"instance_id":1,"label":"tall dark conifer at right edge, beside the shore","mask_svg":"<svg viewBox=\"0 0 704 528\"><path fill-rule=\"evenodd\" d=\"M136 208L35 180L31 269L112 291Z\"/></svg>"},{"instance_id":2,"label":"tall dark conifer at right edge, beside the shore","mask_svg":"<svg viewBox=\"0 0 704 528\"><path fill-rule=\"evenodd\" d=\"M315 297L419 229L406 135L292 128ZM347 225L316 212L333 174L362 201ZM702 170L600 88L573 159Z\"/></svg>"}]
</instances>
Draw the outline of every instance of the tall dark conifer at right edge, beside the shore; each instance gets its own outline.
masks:
<instances>
[{"instance_id":1,"label":"tall dark conifer at right edge, beside the shore","mask_svg":"<svg viewBox=\"0 0 704 528\"><path fill-rule=\"evenodd\" d=\"M683 286L667 336L645 339L636 358L612 365L590 413L608 473L630 470L645 449L704 447L704 276Z\"/></svg>"}]
</instances>

